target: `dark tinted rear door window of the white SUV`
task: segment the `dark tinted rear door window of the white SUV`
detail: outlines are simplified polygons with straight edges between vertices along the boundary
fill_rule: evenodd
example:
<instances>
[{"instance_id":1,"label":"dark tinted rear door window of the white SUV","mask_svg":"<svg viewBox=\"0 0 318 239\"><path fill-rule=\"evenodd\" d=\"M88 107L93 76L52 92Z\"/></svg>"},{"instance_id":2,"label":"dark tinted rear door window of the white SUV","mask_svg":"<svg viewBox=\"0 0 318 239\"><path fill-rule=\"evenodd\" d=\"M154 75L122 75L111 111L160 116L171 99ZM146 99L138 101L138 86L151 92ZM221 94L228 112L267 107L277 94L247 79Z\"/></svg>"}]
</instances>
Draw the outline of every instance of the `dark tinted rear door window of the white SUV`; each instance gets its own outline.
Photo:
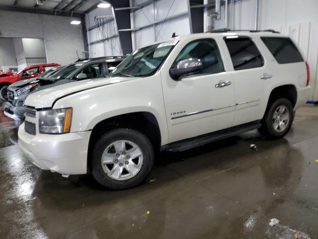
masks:
<instances>
[{"instance_id":1,"label":"dark tinted rear door window of the white SUV","mask_svg":"<svg viewBox=\"0 0 318 239\"><path fill-rule=\"evenodd\" d=\"M256 45L249 38L226 38L234 70L262 67L264 60Z\"/></svg>"}]
</instances>

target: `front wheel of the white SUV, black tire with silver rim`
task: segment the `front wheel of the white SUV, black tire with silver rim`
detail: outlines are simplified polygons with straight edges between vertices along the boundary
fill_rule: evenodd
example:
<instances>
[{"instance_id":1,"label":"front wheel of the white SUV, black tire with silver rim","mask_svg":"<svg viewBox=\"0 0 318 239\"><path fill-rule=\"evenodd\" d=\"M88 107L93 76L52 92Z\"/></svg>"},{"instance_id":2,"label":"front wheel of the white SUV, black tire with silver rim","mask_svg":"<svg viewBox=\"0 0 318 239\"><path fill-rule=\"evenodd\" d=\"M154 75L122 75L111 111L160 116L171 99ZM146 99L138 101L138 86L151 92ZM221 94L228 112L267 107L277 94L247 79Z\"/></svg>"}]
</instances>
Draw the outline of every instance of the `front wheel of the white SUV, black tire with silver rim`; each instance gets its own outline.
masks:
<instances>
[{"instance_id":1,"label":"front wheel of the white SUV, black tire with silver rim","mask_svg":"<svg viewBox=\"0 0 318 239\"><path fill-rule=\"evenodd\" d=\"M132 188L149 176L154 159L153 145L144 134L134 129L117 128L96 141L91 174L106 188Z\"/></svg>"}]
</instances>

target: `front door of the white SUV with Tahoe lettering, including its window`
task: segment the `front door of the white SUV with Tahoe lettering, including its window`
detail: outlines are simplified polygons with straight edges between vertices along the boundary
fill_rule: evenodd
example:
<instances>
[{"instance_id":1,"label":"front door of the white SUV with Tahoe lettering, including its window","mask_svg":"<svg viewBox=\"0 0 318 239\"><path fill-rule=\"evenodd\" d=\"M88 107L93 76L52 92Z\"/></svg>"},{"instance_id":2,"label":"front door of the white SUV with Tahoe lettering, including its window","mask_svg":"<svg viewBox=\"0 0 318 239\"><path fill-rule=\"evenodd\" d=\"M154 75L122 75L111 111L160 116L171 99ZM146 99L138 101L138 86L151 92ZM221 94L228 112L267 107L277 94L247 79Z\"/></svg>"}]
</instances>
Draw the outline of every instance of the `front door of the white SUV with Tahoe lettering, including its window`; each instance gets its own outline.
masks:
<instances>
[{"instance_id":1,"label":"front door of the white SUV with Tahoe lettering, including its window","mask_svg":"<svg viewBox=\"0 0 318 239\"><path fill-rule=\"evenodd\" d=\"M234 120L232 74L224 70L216 41L204 38L186 44L172 68L189 58L200 59L203 68L179 79L161 75L169 142L231 127Z\"/></svg>"}]
</instances>

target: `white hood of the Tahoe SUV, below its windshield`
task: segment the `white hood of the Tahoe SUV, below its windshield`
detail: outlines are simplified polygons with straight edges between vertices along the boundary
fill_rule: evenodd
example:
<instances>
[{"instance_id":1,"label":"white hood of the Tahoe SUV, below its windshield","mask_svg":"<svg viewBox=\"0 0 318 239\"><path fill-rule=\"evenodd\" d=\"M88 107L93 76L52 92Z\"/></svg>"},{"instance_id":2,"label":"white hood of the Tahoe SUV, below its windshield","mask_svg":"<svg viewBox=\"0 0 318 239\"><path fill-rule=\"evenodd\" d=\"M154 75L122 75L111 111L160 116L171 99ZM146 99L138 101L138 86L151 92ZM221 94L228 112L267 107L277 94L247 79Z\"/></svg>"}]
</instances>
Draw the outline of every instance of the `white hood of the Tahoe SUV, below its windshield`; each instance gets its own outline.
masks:
<instances>
[{"instance_id":1,"label":"white hood of the Tahoe SUV, below its windshield","mask_svg":"<svg viewBox=\"0 0 318 239\"><path fill-rule=\"evenodd\" d=\"M139 77L110 77L110 78L96 78L90 80L77 81L67 85L59 85L44 89L33 94L30 94L24 105L35 107L36 109L52 107L55 101L68 95L75 94L80 91L88 89L119 84L125 81L132 81L140 79Z\"/></svg>"}]
</instances>

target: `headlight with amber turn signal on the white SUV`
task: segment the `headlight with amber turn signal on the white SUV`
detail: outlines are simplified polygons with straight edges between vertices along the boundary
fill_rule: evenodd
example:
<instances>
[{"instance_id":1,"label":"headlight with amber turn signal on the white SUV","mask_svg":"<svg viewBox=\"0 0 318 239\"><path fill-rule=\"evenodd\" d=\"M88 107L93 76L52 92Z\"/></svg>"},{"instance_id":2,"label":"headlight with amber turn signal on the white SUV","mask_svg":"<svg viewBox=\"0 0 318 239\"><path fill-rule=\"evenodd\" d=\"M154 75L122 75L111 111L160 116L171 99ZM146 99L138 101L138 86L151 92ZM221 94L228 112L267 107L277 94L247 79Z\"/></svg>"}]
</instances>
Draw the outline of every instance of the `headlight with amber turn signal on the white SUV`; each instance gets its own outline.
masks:
<instances>
[{"instance_id":1,"label":"headlight with amber turn signal on the white SUV","mask_svg":"<svg viewBox=\"0 0 318 239\"><path fill-rule=\"evenodd\" d=\"M72 108L40 111L40 133L59 134L69 133L72 122Z\"/></svg>"}]
</instances>

